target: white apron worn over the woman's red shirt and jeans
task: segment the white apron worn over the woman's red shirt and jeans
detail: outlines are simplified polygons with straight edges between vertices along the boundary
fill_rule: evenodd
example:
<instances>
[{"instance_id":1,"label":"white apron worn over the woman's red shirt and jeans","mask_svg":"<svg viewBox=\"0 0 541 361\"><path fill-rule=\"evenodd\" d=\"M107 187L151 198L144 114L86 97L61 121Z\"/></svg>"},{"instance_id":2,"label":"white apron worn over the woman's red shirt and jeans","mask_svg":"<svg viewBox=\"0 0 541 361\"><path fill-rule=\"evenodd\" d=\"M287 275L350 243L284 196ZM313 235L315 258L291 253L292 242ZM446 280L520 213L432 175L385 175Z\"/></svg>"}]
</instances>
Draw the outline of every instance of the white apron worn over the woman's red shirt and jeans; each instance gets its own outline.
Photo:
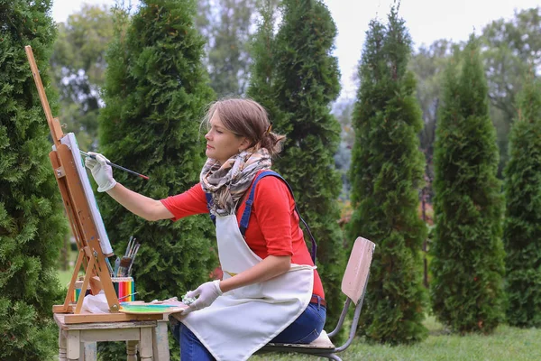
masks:
<instances>
[{"instance_id":1,"label":"white apron worn over the woman's red shirt and jeans","mask_svg":"<svg viewBox=\"0 0 541 361\"><path fill-rule=\"evenodd\" d=\"M216 217L224 280L261 262L246 245L235 215ZM291 264L287 273L218 297L210 307L180 318L217 361L244 361L306 310L314 268Z\"/></svg>"}]
</instances>

